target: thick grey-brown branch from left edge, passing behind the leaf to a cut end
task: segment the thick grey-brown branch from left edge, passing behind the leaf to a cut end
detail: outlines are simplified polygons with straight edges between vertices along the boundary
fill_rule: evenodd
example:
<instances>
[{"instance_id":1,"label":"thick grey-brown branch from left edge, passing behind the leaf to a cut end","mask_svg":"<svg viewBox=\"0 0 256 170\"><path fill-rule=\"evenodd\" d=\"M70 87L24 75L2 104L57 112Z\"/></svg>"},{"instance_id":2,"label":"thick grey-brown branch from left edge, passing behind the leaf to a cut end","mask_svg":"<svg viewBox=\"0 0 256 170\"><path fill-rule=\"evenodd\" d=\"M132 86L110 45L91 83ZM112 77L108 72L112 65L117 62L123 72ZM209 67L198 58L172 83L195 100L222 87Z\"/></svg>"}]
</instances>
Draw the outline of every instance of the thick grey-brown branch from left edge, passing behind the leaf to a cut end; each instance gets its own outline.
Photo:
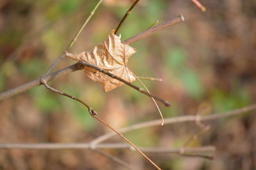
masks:
<instances>
[{"instance_id":1,"label":"thick grey-brown branch from left edge, passing behind the leaf to a cut end","mask_svg":"<svg viewBox=\"0 0 256 170\"><path fill-rule=\"evenodd\" d=\"M170 27L172 25L179 24L179 22L181 22L181 21L184 21L184 18L182 15L174 18L173 20L168 20L168 21L164 22L165 24L164 23L159 24L159 25L162 25L161 27L159 27L159 25L156 25L155 27L151 28L151 29L156 29L157 31L152 32L151 29L148 29L147 31L143 31L140 34L133 36L132 38L126 39L125 41L123 41L123 43L126 43L126 44L134 43L136 41L139 41L140 39L150 36L151 34L153 34L155 32L161 31L162 29L166 29L167 27ZM54 73L45 75L44 80L46 80L48 82L48 81L51 81L59 76L64 76L68 73L72 73L72 72L80 70L80 69L83 69L83 66L81 67L81 64L79 64L79 62L77 62L76 64L73 64L72 66L68 66L68 67L65 67L64 69L61 69ZM30 81L23 85L20 85L19 87L15 87L13 89L6 90L5 92L2 92L0 94L0 101L3 99L6 99L8 97L12 97L17 94L20 94L21 92L25 92L25 91L32 89L33 87L36 87L38 85L42 85L41 78Z\"/></svg>"}]
</instances>

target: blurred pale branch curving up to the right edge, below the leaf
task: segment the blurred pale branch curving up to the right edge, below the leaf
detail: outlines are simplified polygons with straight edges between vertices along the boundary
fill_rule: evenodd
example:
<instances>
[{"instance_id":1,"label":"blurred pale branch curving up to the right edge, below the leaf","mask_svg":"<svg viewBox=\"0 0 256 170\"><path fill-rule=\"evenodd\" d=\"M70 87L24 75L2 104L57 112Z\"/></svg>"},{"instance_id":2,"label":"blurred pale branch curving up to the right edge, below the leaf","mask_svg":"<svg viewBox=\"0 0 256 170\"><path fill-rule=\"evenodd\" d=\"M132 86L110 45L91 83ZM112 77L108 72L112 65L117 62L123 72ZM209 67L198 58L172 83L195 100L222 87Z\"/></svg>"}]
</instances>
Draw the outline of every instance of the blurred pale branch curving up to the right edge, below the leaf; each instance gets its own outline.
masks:
<instances>
[{"instance_id":1,"label":"blurred pale branch curving up to the right edge, below the leaf","mask_svg":"<svg viewBox=\"0 0 256 170\"><path fill-rule=\"evenodd\" d=\"M240 109L237 109L237 110L227 111L225 113L215 113L213 115L200 116L200 120L201 121L215 120L215 119L218 119L218 118L224 118L224 117L230 117L230 116L234 116L234 115L243 114L243 113L246 113L248 111L253 111L253 110L256 110L256 104L252 104L250 106L246 106L244 108L240 108ZM164 124L175 124L175 123L180 123L180 122L191 122L191 121L195 121L196 119L198 119L198 115L196 115L196 116L189 115L189 116L181 116L181 117L174 117L174 118L165 118L164 119ZM152 126L161 124L161 121L162 120L159 119L159 120L152 120L152 121L149 121L149 122L143 122L143 123L140 123L140 124L131 125L129 127L119 129L118 132L125 133L125 132L134 131L136 129L141 129L143 127L152 127ZM115 135L116 134L114 132L109 132L108 134L104 134L104 135L99 136L98 138L94 139L91 143L93 145L98 145L99 143L102 143L102 141L105 141L106 139L112 138Z\"/></svg>"}]
</instances>

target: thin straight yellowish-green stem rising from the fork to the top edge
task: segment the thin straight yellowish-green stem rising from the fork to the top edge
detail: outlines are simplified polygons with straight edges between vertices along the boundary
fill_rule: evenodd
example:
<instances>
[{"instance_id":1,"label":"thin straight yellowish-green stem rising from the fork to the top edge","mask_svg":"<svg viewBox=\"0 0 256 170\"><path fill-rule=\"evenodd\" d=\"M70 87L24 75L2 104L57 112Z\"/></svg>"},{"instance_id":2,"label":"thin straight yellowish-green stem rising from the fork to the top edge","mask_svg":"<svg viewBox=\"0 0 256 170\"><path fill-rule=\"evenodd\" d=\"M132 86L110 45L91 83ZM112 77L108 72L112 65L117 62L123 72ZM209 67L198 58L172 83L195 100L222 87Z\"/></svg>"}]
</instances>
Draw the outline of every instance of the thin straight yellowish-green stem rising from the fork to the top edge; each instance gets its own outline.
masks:
<instances>
[{"instance_id":1,"label":"thin straight yellowish-green stem rising from the fork to the top edge","mask_svg":"<svg viewBox=\"0 0 256 170\"><path fill-rule=\"evenodd\" d=\"M70 42L70 44L68 45L68 47L67 47L67 49L66 49L65 51L69 50L69 49L74 45L74 43L76 42L78 36L79 36L79 35L81 34L81 32L83 31L84 27L88 24L88 22L90 21L90 19L91 19L92 16L94 15L95 11L96 11L97 8L99 7L100 3L102 3L102 0L100 0L100 1L96 4L96 6L93 8L93 10L91 11L89 17L84 21L83 25L81 26L81 28L79 29L79 31L77 31L76 36L74 36L74 38L72 39L72 41ZM55 67L55 66L58 64L58 62L60 62L60 60L63 59L63 57L65 57L65 53L64 53L64 52L63 52L63 54L51 65L51 67L49 67L49 69L46 71L46 73L44 74L44 76L45 76L46 74L51 73L53 67ZM44 77L44 76L43 76L43 77Z\"/></svg>"}]
</instances>

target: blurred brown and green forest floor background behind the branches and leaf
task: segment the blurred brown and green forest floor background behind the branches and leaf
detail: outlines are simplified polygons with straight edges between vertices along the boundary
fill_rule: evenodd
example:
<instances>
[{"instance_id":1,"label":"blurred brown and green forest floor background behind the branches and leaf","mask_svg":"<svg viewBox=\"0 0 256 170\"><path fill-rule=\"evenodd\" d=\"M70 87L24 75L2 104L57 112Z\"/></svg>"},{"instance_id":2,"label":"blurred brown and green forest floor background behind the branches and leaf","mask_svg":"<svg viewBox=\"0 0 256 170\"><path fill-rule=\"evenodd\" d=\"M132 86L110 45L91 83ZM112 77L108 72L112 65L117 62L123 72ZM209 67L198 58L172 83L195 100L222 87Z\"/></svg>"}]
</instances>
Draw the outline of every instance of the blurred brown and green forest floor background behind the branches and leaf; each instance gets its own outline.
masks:
<instances>
[{"instance_id":1,"label":"blurred brown and green forest floor background behind the branches and leaf","mask_svg":"<svg viewBox=\"0 0 256 170\"><path fill-rule=\"evenodd\" d=\"M120 29L122 39L182 13L185 22L131 46L137 53L129 67L153 94L164 117L221 113L253 104L256 99L256 1L200 1L203 13L189 0L141 0ZM1 0L0 91L45 73L67 48L97 1ZM83 52L102 42L118 25L133 1L104 0L70 52ZM55 70L73 64L64 59ZM143 63L143 64L141 64ZM52 87L80 97L115 128L156 120L152 100L124 85L104 93L102 87L76 71ZM140 83L134 83L140 85ZM35 87L0 102L0 143L90 142L109 129L76 101ZM205 124L211 129L189 147L214 145L214 160L147 154L163 169L256 169L255 111ZM131 131L125 136L138 146L180 148L200 131L195 122ZM124 142L120 137L108 142ZM137 152L104 150L136 169L154 169ZM124 169L90 150L0 150L0 169Z\"/></svg>"}]
</instances>

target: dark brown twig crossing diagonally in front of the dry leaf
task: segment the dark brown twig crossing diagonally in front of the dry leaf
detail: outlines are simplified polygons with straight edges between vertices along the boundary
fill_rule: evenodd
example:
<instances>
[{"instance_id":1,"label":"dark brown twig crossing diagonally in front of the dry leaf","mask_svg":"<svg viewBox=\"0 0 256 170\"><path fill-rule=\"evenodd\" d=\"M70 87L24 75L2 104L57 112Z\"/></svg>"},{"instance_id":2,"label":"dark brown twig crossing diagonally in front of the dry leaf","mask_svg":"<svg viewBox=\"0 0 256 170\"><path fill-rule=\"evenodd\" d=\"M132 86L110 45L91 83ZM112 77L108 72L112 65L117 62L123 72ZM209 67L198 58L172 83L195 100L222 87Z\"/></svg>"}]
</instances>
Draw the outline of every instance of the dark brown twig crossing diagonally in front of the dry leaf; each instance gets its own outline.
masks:
<instances>
[{"instance_id":1,"label":"dark brown twig crossing diagonally in front of the dry leaf","mask_svg":"<svg viewBox=\"0 0 256 170\"><path fill-rule=\"evenodd\" d=\"M88 62L81 62L82 64L84 64L84 66L88 66L88 67L92 67L93 69L97 69L98 71L100 71L101 73L104 73L106 75L108 75L111 78L115 78L116 80L122 81L123 83L125 83L126 85L129 85L130 87L132 87L133 89L138 90L139 92L149 96L149 97L153 97L154 99L156 99L157 101L161 101L165 106L171 106L171 104L168 101L165 101L164 99L162 99L161 97L158 96L154 96L153 94L150 94L149 92L147 92L146 90L141 89L140 87L137 87L136 85L133 85L132 83L130 83L129 81L126 81L118 76L115 76L112 73L109 73L108 71L104 71L104 69L99 68L97 66L94 66L93 64L90 64Z\"/></svg>"}]
</instances>

